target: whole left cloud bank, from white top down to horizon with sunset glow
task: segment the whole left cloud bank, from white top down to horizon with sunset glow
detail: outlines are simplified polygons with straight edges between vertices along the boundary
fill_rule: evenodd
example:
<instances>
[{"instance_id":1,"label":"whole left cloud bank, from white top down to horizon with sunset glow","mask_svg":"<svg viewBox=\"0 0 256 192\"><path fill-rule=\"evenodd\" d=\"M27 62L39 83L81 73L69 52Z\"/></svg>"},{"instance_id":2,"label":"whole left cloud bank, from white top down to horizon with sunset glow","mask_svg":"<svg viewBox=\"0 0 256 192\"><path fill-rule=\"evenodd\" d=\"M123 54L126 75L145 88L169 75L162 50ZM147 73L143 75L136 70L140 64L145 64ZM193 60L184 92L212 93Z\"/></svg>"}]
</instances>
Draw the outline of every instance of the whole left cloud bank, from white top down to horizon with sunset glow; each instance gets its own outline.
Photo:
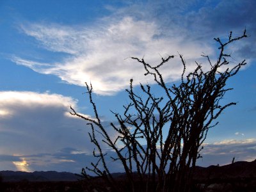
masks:
<instances>
[{"instance_id":1,"label":"whole left cloud bank, from white top down to horizon with sunset glow","mask_svg":"<svg viewBox=\"0 0 256 192\"><path fill-rule=\"evenodd\" d=\"M70 106L77 109L77 100L59 94L0 92L1 169L79 173L88 166L95 148L90 129L87 122L70 115ZM109 122L102 125L115 138ZM106 145L102 150L108 150Z\"/></svg>"}]
</instances>

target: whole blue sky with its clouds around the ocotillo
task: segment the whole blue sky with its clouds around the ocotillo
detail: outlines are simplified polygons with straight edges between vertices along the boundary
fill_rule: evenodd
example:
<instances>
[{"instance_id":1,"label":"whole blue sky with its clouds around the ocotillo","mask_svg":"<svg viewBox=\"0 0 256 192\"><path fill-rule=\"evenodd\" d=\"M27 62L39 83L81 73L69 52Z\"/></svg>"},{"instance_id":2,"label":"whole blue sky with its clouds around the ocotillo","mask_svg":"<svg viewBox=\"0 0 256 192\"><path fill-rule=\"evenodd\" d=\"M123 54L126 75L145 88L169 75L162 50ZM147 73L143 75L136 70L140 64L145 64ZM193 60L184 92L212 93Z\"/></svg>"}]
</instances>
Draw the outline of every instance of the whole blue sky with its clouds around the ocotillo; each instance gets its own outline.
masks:
<instances>
[{"instance_id":1,"label":"whole blue sky with its clouds around the ocotillo","mask_svg":"<svg viewBox=\"0 0 256 192\"><path fill-rule=\"evenodd\" d=\"M109 111L122 113L129 102L129 79L150 84L143 67L130 57L164 65L166 82L179 83L182 63L216 61L214 37L248 38L228 47L231 65L248 63L228 80L234 88L226 109L205 140L197 164L228 164L256 159L256 1L0 1L0 170L81 172L93 161L86 122L69 107L93 118L85 82L108 127ZM109 130L111 135L115 132ZM106 151L108 149L106 148ZM111 153L111 151L109 151ZM115 166L113 166L115 165ZM109 161L112 172L120 165Z\"/></svg>"}]
</instances>

